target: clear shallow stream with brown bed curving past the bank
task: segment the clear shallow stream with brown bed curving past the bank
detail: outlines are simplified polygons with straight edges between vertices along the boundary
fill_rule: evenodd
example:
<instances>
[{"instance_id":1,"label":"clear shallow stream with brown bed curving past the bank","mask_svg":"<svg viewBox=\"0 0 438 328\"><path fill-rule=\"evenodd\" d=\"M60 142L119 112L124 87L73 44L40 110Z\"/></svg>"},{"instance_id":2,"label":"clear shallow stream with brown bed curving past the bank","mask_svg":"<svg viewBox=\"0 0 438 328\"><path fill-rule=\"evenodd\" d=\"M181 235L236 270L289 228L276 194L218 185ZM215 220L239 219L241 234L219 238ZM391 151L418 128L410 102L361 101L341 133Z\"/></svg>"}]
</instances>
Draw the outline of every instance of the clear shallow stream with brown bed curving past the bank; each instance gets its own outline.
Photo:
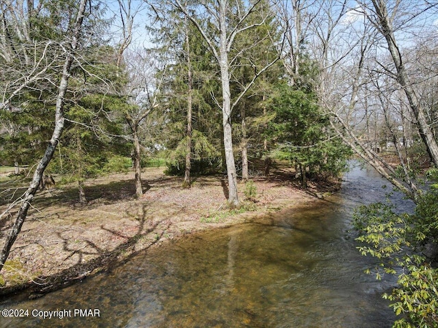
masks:
<instances>
[{"instance_id":1,"label":"clear shallow stream with brown bed curving past the bank","mask_svg":"<svg viewBox=\"0 0 438 328\"><path fill-rule=\"evenodd\" d=\"M373 262L360 256L350 232L352 208L382 200L383 184L355 167L328 200L189 236L41 299L3 303L0 310L28 314L0 317L0 326L391 327L394 314L381 294L394 280L363 273ZM75 309L99 316L75 316ZM66 312L41 318L33 310Z\"/></svg>"}]
</instances>

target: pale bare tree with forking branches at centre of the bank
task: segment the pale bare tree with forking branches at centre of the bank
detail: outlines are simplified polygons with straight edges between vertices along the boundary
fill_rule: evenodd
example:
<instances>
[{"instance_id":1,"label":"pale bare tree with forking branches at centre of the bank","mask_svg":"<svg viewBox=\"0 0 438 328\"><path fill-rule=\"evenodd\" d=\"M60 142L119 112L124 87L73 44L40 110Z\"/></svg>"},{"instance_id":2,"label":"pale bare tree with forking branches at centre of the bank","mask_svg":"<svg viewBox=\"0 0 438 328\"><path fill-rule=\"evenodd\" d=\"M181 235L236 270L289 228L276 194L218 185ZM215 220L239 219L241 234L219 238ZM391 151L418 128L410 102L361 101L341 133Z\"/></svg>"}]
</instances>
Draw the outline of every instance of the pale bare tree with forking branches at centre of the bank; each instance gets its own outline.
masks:
<instances>
[{"instance_id":1,"label":"pale bare tree with forking branches at centre of the bank","mask_svg":"<svg viewBox=\"0 0 438 328\"><path fill-rule=\"evenodd\" d=\"M223 128L223 145L224 158L227 165L228 177L228 204L235 207L240 205L240 200L237 194L237 172L235 167L235 156L233 152L233 137L232 137L232 114L233 109L242 100L246 92L253 86L257 77L268 70L276 59L266 64L259 70L255 70L253 78L244 85L242 92L232 98L231 79L232 71L236 66L238 57L249 49L235 48L236 38L248 29L253 29L259 25L263 25L264 21L269 19L270 3L265 1L256 1L255 3L245 3L242 1L227 1L220 0L217 2L201 1L194 6L188 8L187 5L181 4L180 1L175 1L175 7L178 8L185 16L190 18L196 29L201 33L207 44L209 53L213 55L215 61L220 68L220 85L222 91L222 101L216 102L222 111L222 128ZM257 23L251 20L255 13L263 12L263 16ZM251 46L253 47L253 45ZM232 55L236 49L235 55Z\"/></svg>"}]
</instances>

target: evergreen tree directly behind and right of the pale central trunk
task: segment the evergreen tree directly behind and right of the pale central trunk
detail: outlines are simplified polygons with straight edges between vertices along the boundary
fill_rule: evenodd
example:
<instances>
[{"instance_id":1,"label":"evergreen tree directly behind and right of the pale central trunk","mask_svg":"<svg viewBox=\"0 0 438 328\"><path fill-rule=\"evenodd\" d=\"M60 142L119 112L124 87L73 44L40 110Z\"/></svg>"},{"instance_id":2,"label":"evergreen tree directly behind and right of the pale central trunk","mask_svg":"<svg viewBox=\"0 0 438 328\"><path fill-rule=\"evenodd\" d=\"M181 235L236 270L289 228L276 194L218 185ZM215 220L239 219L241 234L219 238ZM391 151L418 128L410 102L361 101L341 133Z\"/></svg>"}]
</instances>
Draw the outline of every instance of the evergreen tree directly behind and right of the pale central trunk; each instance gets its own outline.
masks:
<instances>
[{"instance_id":1,"label":"evergreen tree directly behind and right of the pale central trunk","mask_svg":"<svg viewBox=\"0 0 438 328\"><path fill-rule=\"evenodd\" d=\"M235 55L235 67L232 70L231 90L234 98L244 92L245 85L250 83L255 72L272 63L278 57L272 42L279 42L281 35L275 34L278 31L276 21L265 11L270 8L264 4L261 10L255 12L248 18L249 22L257 23L263 16L270 19L263 20L263 24L253 29L240 33L235 40L232 55ZM245 49L242 51L242 49ZM277 61L269 70L263 72L255 81L253 87L244 94L242 100L237 102L236 110L233 113L233 139L238 141L241 156L237 161L241 163L242 180L248 180L249 159L260 159L262 156L268 158L268 141L264 133L272 115L266 108L266 100L274 92L275 85L283 76L281 61ZM269 161L266 161L269 163ZM267 167L266 172L269 171Z\"/></svg>"}]
</instances>

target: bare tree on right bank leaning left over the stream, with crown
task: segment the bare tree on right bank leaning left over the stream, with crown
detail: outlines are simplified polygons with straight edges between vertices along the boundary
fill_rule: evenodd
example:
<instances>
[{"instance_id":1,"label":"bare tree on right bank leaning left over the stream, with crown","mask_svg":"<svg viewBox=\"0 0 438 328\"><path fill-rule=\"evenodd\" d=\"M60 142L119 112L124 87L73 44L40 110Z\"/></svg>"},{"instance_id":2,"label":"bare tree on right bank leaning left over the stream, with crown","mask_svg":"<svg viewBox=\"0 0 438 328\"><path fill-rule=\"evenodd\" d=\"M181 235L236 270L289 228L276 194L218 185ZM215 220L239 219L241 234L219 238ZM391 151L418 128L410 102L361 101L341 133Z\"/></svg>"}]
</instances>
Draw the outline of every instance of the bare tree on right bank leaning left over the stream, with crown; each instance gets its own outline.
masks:
<instances>
[{"instance_id":1,"label":"bare tree on right bank leaning left over the stream, with crown","mask_svg":"<svg viewBox=\"0 0 438 328\"><path fill-rule=\"evenodd\" d=\"M320 106L331 117L333 131L356 154L415 199L417 187L409 175L396 173L370 143L370 135L360 136L361 122L365 120L369 132L371 115L374 118L380 115L374 103L383 101L383 95L379 98L378 94L383 89L373 87L373 81L376 73L388 68L382 67L376 57L378 36L374 25L368 24L364 7L347 4L347 1L322 3L311 25L311 51L320 65L315 83ZM381 114L385 118L385 113ZM385 130L391 132L387 124Z\"/></svg>"}]
</instances>

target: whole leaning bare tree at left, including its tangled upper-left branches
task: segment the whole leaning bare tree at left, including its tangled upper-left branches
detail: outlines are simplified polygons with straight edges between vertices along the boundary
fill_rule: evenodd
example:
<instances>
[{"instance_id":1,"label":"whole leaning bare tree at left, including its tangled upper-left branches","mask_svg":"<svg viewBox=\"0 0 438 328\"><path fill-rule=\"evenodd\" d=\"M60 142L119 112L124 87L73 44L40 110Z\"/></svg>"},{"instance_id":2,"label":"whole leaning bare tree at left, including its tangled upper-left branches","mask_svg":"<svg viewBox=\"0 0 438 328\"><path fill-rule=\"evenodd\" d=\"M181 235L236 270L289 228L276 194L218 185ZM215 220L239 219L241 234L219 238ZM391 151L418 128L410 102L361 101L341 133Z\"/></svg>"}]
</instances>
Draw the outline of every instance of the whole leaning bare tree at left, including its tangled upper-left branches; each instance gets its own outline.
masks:
<instances>
[{"instance_id":1,"label":"whole leaning bare tree at left, including its tangled upper-left branches","mask_svg":"<svg viewBox=\"0 0 438 328\"><path fill-rule=\"evenodd\" d=\"M62 3L61 3L62 2ZM55 4L40 1L37 8L19 8L19 3L1 1L2 9L0 60L3 70L0 111L20 111L29 102L23 101L29 91L40 90L44 85L53 86L51 95L55 102L53 134L44 155L36 165L29 188L12 202L0 218L19 206L12 228L5 236L0 254L0 270L3 269L10 250L27 216L27 211L42 180L64 128L64 105L72 67L81 62L80 52L86 33L92 32L84 22L88 1L60 1ZM27 1L27 5L31 1ZM46 5L43 7L43 5ZM88 8L91 12L91 8ZM62 14L62 15L61 15ZM49 19L49 18L56 19ZM53 24L50 25L49 24ZM48 25L48 26L46 26ZM41 34L50 29L44 38ZM75 63L75 64L74 64ZM59 77L59 78L58 78ZM44 104L44 99L37 99ZM45 99L49 101L50 99Z\"/></svg>"}]
</instances>

